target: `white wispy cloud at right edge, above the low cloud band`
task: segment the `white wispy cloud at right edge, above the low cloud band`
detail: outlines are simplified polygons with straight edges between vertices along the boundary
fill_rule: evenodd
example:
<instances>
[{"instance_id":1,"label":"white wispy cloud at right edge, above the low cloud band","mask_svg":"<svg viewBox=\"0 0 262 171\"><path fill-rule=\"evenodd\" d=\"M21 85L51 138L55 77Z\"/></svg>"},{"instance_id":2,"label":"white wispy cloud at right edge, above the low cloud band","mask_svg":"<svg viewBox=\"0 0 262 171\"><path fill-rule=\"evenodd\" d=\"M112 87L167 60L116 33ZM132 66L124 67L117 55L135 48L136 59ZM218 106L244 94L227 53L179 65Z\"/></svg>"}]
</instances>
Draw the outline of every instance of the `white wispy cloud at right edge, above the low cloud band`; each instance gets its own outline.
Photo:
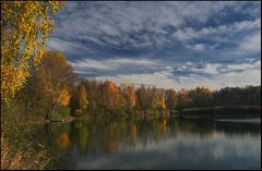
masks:
<instances>
[{"instance_id":1,"label":"white wispy cloud at right edge, above the low cloud band","mask_svg":"<svg viewBox=\"0 0 262 171\"><path fill-rule=\"evenodd\" d=\"M172 37L195 52L216 58L247 58L261 52L261 19L241 21L215 27L184 27Z\"/></svg>"}]
</instances>

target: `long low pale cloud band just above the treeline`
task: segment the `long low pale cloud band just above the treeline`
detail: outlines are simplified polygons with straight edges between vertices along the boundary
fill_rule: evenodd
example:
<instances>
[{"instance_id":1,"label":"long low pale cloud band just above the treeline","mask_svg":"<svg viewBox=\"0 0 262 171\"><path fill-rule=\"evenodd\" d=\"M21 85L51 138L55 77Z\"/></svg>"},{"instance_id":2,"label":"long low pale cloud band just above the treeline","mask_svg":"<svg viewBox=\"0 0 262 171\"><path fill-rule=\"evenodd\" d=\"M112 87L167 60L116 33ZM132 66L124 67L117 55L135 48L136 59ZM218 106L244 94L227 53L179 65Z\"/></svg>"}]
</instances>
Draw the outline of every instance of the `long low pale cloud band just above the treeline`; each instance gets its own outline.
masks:
<instances>
[{"instance_id":1,"label":"long low pale cloud band just above the treeline","mask_svg":"<svg viewBox=\"0 0 262 171\"><path fill-rule=\"evenodd\" d=\"M99 81L110 80L118 85L130 83L136 86L143 84L162 88L172 87L175 89L195 88L198 86L218 89L225 86L258 85L261 82L260 60L245 60L241 63L229 64L170 63L160 60L152 61L146 58L136 58L135 60L117 58L108 60L86 59L75 63L71 62L71 64L76 73L88 76L93 74L93 70L96 70L96 73L105 71L92 78ZM124 72L127 69L128 72ZM146 73L141 73L140 70L145 70Z\"/></svg>"}]
</instances>

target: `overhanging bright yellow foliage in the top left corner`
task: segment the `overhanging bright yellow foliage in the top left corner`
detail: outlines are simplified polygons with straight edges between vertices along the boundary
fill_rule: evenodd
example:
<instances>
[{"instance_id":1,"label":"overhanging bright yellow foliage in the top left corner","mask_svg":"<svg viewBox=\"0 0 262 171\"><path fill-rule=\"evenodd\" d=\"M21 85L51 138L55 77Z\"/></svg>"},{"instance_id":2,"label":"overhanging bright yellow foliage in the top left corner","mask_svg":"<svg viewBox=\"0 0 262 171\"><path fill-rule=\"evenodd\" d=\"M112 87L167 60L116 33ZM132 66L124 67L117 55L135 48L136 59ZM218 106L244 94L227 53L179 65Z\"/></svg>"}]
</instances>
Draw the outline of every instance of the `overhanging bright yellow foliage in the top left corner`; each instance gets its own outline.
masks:
<instances>
[{"instance_id":1,"label":"overhanging bright yellow foliage in the top left corner","mask_svg":"<svg viewBox=\"0 0 262 171\"><path fill-rule=\"evenodd\" d=\"M60 1L1 1L1 100L9 98L38 66Z\"/></svg>"}]
</instances>

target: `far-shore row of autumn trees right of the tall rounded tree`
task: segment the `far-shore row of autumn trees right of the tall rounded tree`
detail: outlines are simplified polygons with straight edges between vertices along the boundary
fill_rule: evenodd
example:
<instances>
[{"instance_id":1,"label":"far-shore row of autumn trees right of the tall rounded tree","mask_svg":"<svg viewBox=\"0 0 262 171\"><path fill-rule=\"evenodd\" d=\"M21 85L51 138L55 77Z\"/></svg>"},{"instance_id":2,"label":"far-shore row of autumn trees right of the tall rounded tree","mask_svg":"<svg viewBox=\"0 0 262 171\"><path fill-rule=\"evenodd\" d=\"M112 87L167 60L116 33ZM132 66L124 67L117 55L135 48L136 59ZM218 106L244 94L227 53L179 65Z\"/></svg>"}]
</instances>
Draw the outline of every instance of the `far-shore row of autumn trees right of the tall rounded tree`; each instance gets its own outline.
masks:
<instances>
[{"instance_id":1,"label":"far-shore row of autumn trees right of the tall rounded tree","mask_svg":"<svg viewBox=\"0 0 262 171\"><path fill-rule=\"evenodd\" d=\"M86 110L104 109L138 109L168 110L179 108L216 107L216 106L260 106L261 86L225 87L211 91L207 87L194 89L157 87L134 87L130 84L117 86L110 81L82 81L74 91L85 89L88 105ZM79 93L76 93L79 94ZM71 109L74 107L71 106ZM73 113L73 111L72 111Z\"/></svg>"}]
</instances>

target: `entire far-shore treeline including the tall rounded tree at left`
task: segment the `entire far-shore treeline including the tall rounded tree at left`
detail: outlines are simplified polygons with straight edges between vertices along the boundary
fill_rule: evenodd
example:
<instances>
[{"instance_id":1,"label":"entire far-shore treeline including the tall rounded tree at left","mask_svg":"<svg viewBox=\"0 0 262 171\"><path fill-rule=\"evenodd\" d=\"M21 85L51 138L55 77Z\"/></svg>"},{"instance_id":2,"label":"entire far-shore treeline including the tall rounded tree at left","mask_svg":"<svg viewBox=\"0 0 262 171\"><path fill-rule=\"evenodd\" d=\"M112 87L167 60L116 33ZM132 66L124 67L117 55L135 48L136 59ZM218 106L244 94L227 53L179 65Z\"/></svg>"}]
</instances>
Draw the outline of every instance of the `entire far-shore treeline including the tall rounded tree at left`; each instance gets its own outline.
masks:
<instances>
[{"instance_id":1,"label":"entire far-shore treeline including the tall rounded tree at left","mask_svg":"<svg viewBox=\"0 0 262 171\"><path fill-rule=\"evenodd\" d=\"M207 87L175 90L80 80L61 52L46 52L38 70L32 70L31 74L13 103L24 107L24 113L41 113L46 119L61 112L61 107L71 115L80 117L141 111L159 114L184 108L261 105L261 86L225 87L214 91Z\"/></svg>"}]
</instances>

